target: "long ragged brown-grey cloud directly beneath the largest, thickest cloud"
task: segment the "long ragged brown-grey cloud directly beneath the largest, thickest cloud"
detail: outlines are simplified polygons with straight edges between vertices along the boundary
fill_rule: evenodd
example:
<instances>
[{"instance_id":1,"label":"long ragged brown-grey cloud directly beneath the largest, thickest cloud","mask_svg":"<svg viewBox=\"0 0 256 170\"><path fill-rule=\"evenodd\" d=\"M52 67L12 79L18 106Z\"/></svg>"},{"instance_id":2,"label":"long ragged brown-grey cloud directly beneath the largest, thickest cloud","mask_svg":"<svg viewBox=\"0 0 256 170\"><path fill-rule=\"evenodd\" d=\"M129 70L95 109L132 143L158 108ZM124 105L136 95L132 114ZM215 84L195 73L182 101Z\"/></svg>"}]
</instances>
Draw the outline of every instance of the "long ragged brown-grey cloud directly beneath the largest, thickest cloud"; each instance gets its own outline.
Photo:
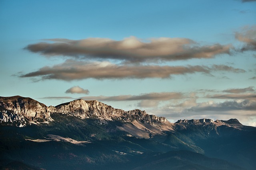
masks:
<instances>
[{"instance_id":1,"label":"long ragged brown-grey cloud directly beneath the largest, thickest cloud","mask_svg":"<svg viewBox=\"0 0 256 170\"><path fill-rule=\"evenodd\" d=\"M245 70L225 65L208 66L159 66L159 65L118 65L109 62L88 63L85 61L66 60L52 67L45 66L38 71L20 75L20 77L40 77L41 80L82 80L122 79L122 78L170 78L172 75L211 71L245 72Z\"/></svg>"}]
</instances>

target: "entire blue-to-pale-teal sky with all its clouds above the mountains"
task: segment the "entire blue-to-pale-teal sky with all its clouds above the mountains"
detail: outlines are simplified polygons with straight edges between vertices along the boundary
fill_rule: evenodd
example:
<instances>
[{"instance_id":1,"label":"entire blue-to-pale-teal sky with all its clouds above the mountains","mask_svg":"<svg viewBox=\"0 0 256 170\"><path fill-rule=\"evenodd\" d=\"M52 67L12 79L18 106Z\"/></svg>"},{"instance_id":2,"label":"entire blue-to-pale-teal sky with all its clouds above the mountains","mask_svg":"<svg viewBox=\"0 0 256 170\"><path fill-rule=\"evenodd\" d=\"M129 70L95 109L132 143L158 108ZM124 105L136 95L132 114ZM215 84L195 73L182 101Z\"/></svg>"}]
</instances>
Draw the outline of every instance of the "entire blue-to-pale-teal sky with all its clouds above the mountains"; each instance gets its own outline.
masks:
<instances>
[{"instance_id":1,"label":"entire blue-to-pale-teal sky with all its clouds above the mountains","mask_svg":"<svg viewBox=\"0 0 256 170\"><path fill-rule=\"evenodd\" d=\"M256 0L0 0L0 96L256 126Z\"/></svg>"}]
</instances>

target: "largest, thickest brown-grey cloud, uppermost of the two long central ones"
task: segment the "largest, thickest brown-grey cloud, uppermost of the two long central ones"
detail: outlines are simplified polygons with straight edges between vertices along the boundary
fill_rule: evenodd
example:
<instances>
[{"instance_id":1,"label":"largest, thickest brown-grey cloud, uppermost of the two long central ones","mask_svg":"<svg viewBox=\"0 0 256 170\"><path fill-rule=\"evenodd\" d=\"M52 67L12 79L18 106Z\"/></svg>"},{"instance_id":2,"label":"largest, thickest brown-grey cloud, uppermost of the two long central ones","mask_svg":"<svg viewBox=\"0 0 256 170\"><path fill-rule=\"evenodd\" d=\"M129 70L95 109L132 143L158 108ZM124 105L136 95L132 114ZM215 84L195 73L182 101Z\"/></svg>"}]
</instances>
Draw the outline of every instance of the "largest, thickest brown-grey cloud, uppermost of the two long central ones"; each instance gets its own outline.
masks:
<instances>
[{"instance_id":1,"label":"largest, thickest brown-grey cloud, uppermost of the two long central ones","mask_svg":"<svg viewBox=\"0 0 256 170\"><path fill-rule=\"evenodd\" d=\"M86 59L117 59L126 62L176 61L193 58L212 58L218 54L229 54L230 45L199 45L186 38L154 38L144 42L136 37L115 41L107 38L82 40L46 39L53 43L30 44L24 49L48 57L63 55Z\"/></svg>"}]
</instances>

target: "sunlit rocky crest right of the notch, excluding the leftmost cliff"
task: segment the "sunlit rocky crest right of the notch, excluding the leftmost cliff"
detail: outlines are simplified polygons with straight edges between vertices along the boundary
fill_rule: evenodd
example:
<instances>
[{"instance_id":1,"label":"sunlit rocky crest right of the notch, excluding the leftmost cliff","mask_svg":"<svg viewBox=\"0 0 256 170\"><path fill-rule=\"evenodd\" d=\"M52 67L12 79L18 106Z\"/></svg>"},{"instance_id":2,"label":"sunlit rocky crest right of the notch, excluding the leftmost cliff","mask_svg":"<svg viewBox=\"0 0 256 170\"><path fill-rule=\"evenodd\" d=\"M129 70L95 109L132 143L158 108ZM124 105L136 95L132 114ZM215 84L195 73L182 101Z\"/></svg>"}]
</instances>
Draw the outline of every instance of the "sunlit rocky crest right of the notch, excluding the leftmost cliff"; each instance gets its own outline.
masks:
<instances>
[{"instance_id":1,"label":"sunlit rocky crest right of the notch, excluding the leftmost cliff","mask_svg":"<svg viewBox=\"0 0 256 170\"><path fill-rule=\"evenodd\" d=\"M165 117L148 115L146 111L142 111L139 109L124 111L122 109L115 109L112 106L108 106L96 100L74 100L72 102L60 104L55 107L49 107L49 110L51 113L64 113L81 117L82 119L89 117L98 117L108 120L120 118L126 121L136 120L143 123L156 123L167 121Z\"/></svg>"}]
</instances>

